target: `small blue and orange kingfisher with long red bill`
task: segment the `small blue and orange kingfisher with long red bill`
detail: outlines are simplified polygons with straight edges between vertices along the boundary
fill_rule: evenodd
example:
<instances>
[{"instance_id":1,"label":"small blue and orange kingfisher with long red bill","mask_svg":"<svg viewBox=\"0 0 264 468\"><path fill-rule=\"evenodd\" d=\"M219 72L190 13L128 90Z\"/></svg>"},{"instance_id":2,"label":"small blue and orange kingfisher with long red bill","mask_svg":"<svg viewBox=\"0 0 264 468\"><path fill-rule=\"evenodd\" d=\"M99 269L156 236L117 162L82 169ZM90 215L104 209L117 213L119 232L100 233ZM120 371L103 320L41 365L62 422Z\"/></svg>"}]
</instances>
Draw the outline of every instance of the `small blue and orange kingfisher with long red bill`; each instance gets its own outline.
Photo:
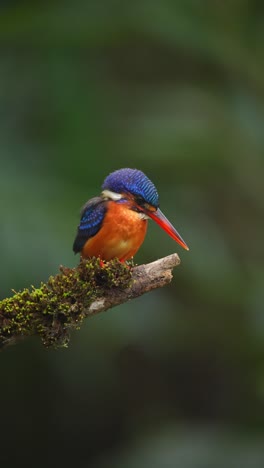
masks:
<instances>
[{"instance_id":1,"label":"small blue and orange kingfisher with long red bill","mask_svg":"<svg viewBox=\"0 0 264 468\"><path fill-rule=\"evenodd\" d=\"M189 250L160 210L153 182L138 169L116 170L105 178L101 195L83 206L73 251L84 259L98 257L107 262L118 258L126 262L142 245L149 219Z\"/></svg>"}]
</instances>

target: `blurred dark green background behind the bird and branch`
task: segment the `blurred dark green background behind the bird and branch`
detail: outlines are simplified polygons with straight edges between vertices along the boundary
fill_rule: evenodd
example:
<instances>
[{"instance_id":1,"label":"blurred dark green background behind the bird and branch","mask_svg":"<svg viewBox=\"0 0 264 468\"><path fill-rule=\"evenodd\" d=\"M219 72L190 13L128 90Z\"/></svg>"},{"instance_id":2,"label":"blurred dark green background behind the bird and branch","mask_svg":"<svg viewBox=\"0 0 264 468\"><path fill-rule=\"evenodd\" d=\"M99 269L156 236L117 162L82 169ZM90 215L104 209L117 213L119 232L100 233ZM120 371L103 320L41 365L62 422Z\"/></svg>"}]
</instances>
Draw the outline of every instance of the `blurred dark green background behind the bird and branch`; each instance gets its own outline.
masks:
<instances>
[{"instance_id":1,"label":"blurred dark green background behind the bird and branch","mask_svg":"<svg viewBox=\"0 0 264 468\"><path fill-rule=\"evenodd\" d=\"M121 167L190 246L152 223L169 287L1 353L1 466L262 468L263 2L3 1L0 45L1 298L77 264Z\"/></svg>"}]
</instances>

